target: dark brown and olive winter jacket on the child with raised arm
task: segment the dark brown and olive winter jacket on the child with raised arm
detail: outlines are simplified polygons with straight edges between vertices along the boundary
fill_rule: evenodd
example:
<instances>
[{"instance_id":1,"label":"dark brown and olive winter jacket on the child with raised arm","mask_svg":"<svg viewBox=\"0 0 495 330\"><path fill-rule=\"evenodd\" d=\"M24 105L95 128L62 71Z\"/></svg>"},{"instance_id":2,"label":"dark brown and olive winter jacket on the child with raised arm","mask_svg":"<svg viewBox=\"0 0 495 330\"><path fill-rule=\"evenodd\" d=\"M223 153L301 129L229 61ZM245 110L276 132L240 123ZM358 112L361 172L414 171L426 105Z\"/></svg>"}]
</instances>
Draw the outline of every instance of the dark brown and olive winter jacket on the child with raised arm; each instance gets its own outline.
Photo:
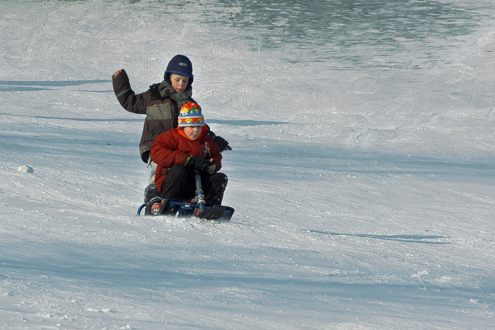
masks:
<instances>
[{"instance_id":1,"label":"dark brown and olive winter jacket on the child with raised arm","mask_svg":"<svg viewBox=\"0 0 495 330\"><path fill-rule=\"evenodd\" d=\"M163 132L177 127L177 118L182 105L195 102L191 97L193 89L191 84L184 93L177 93L169 82L162 81L159 84L149 86L149 90L136 94L131 89L129 77L125 70L112 76L113 91L120 105L129 112L146 114L143 135L139 142L141 159L148 163L149 150L154 139Z\"/></svg>"}]
</instances>

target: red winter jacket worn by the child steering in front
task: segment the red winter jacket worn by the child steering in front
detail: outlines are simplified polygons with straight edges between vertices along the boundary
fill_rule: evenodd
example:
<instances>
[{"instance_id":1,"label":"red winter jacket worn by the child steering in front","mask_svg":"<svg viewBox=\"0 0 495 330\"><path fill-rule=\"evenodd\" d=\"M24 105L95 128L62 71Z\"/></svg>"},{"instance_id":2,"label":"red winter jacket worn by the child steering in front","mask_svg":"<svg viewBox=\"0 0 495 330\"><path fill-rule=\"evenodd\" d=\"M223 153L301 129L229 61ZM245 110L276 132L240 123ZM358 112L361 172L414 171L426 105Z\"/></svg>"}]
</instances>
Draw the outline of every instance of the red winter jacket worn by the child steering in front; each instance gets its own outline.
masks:
<instances>
[{"instance_id":1,"label":"red winter jacket worn by the child steering in front","mask_svg":"<svg viewBox=\"0 0 495 330\"><path fill-rule=\"evenodd\" d=\"M161 133L156 137L153 146L151 146L151 159L158 166L156 167L155 185L161 193L161 186L167 177L167 173L173 165L184 165L187 156L202 157L207 146L210 153L205 156L206 159L213 158L216 165L216 171L222 167L222 155L218 146L207 134L204 134L208 128L203 126L203 131L197 140L191 141L183 130L178 128ZM192 169L191 169L192 170Z\"/></svg>"}]
</instances>

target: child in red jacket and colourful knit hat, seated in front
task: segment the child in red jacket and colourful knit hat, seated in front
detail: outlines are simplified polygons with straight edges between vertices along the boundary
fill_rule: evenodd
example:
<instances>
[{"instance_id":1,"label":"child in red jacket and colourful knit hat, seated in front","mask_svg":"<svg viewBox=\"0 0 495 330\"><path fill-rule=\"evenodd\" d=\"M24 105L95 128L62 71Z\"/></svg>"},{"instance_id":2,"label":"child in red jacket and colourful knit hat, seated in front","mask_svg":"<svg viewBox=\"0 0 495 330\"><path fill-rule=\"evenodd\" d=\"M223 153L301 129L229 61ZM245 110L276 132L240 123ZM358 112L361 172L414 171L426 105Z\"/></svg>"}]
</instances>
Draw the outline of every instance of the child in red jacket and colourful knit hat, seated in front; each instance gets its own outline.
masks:
<instances>
[{"instance_id":1,"label":"child in red jacket and colourful knit hat, seated in front","mask_svg":"<svg viewBox=\"0 0 495 330\"><path fill-rule=\"evenodd\" d=\"M181 107L178 127L158 135L151 146L151 159L157 164L155 185L163 199L192 200L196 194L194 168L190 157L205 158L213 163L201 175L205 204L220 205L227 186L227 176L218 173L222 155L217 144L205 132L201 108L195 102Z\"/></svg>"}]
</instances>

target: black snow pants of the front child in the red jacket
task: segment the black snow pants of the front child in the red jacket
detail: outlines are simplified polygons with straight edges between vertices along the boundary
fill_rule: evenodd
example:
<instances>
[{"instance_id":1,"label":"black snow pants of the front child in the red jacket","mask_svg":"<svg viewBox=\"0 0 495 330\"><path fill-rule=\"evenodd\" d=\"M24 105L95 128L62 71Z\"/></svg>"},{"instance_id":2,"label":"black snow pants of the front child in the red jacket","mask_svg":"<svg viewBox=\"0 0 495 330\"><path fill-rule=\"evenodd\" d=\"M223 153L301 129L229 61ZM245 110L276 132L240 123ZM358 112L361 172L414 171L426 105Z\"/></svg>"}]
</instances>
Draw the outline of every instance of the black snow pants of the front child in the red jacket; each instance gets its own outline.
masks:
<instances>
[{"instance_id":1,"label":"black snow pants of the front child in the red jacket","mask_svg":"<svg viewBox=\"0 0 495 330\"><path fill-rule=\"evenodd\" d=\"M167 173L161 186L161 198L192 199L196 196L194 171L187 171L183 165L174 165ZM227 187L227 176L223 173L201 173L204 202L208 206L220 205Z\"/></svg>"}]
</instances>

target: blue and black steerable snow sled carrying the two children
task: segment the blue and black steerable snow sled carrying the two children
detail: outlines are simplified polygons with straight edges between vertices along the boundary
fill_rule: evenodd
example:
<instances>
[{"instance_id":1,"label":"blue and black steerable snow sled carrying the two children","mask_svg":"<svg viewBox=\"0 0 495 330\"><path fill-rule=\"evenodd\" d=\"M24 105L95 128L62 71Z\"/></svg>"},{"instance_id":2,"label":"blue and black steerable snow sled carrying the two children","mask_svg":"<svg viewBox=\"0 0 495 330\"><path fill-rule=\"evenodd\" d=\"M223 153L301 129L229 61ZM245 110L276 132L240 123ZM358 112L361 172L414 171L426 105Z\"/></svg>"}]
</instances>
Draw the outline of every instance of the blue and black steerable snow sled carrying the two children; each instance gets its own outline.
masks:
<instances>
[{"instance_id":1,"label":"blue and black steerable snow sled carrying the two children","mask_svg":"<svg viewBox=\"0 0 495 330\"><path fill-rule=\"evenodd\" d=\"M207 159L191 157L191 165L194 166L196 197L192 201L181 201L179 199L167 198L162 199L159 196L151 198L148 203L141 205L138 209L138 216L145 209L145 215L168 215L179 217L197 217L206 220L224 220L230 221L234 214L234 208L224 205L207 206L204 203L204 193L201 187L201 171L208 166L213 165ZM161 207L156 208L153 205L161 203Z\"/></svg>"}]
</instances>

